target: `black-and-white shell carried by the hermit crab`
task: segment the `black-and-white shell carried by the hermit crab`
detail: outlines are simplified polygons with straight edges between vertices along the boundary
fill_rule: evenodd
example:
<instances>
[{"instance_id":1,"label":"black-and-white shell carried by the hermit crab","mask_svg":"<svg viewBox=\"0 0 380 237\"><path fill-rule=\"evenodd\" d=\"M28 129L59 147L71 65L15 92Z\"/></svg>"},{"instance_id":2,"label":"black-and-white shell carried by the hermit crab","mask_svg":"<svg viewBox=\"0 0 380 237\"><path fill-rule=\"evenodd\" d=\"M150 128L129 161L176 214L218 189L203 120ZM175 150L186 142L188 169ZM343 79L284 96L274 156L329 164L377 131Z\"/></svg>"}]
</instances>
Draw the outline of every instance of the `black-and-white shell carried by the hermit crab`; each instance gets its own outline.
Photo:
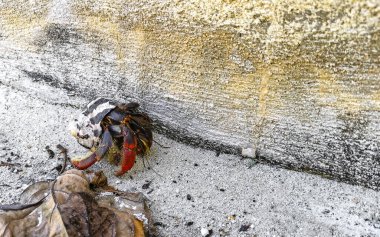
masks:
<instances>
[{"instance_id":1,"label":"black-and-white shell carried by the hermit crab","mask_svg":"<svg viewBox=\"0 0 380 237\"><path fill-rule=\"evenodd\" d=\"M98 146L103 133L100 123L116 105L116 101L106 98L97 98L91 101L78 119L70 123L71 135L77 139L79 144L87 148Z\"/></svg>"}]
</instances>

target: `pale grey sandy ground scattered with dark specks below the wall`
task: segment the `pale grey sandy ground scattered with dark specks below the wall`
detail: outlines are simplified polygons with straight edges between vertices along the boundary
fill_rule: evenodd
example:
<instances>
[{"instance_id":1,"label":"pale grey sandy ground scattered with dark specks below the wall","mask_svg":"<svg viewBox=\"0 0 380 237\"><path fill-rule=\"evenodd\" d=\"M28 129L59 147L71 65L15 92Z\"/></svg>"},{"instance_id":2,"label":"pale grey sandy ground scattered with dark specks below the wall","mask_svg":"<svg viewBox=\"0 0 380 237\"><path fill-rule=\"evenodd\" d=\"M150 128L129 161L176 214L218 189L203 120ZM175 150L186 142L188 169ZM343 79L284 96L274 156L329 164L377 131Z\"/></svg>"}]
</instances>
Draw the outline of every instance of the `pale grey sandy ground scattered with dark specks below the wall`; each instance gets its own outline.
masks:
<instances>
[{"instance_id":1,"label":"pale grey sandy ground scattered with dark specks below the wall","mask_svg":"<svg viewBox=\"0 0 380 237\"><path fill-rule=\"evenodd\" d=\"M0 161L16 164L0 166L5 204L33 181L57 175L57 144L70 156L85 152L67 125L87 100L42 84L0 82ZM380 236L380 192L154 135L170 148L154 145L151 168L139 159L122 178L105 160L92 169L119 189L143 192L160 236L201 236L202 228L210 236Z\"/></svg>"}]
</instances>

